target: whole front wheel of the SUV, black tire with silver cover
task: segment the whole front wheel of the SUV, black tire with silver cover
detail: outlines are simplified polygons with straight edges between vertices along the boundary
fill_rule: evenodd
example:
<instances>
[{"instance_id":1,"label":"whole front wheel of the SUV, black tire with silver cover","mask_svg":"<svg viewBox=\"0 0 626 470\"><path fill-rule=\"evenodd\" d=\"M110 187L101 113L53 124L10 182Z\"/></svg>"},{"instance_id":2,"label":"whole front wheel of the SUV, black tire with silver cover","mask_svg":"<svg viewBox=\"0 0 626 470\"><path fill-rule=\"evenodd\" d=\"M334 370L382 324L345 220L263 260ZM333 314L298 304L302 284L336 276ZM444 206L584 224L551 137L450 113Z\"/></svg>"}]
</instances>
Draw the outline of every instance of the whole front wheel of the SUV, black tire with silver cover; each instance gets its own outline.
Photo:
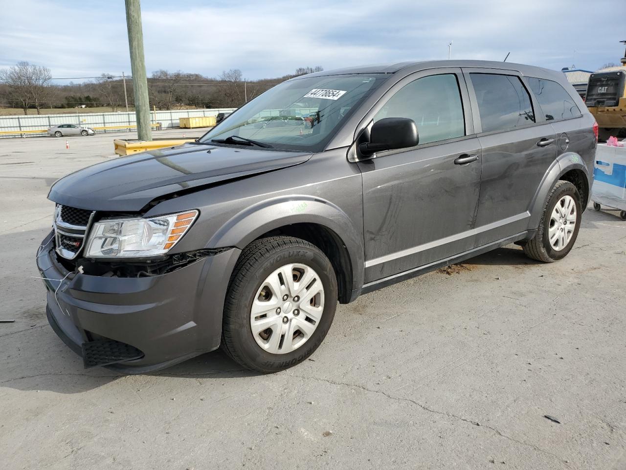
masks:
<instances>
[{"instance_id":1,"label":"whole front wheel of the SUV, black tire with silver cover","mask_svg":"<svg viewBox=\"0 0 626 470\"><path fill-rule=\"evenodd\" d=\"M288 269L292 276L289 286L282 283L282 273L289 272ZM301 299L296 295L298 292L304 293ZM267 306L262 305L266 302ZM260 310L267 313L255 316L253 307L254 313ZM319 347L331 328L336 308L337 279L321 249L299 238L259 239L244 249L230 276L223 313L222 349L235 362L255 372L285 370L305 360ZM254 322L257 323L253 330ZM260 330L262 326L258 325L270 326Z\"/></svg>"}]
</instances>

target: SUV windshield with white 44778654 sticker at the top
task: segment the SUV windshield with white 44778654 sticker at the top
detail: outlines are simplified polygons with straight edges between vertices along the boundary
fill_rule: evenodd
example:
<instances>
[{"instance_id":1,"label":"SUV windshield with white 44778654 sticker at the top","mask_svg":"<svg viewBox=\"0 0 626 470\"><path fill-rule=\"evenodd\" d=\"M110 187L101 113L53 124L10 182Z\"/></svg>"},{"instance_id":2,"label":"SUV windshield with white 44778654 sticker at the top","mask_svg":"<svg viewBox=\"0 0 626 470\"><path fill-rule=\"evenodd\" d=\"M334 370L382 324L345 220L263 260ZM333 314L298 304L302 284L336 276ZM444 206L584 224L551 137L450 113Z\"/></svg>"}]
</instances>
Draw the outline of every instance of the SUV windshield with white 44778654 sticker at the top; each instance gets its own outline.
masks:
<instances>
[{"instance_id":1,"label":"SUV windshield with white 44778654 sticker at the top","mask_svg":"<svg viewBox=\"0 0 626 470\"><path fill-rule=\"evenodd\" d=\"M385 78L358 74L285 81L233 112L199 142L245 145L244 139L251 139L267 148L319 152Z\"/></svg>"}]
</instances>

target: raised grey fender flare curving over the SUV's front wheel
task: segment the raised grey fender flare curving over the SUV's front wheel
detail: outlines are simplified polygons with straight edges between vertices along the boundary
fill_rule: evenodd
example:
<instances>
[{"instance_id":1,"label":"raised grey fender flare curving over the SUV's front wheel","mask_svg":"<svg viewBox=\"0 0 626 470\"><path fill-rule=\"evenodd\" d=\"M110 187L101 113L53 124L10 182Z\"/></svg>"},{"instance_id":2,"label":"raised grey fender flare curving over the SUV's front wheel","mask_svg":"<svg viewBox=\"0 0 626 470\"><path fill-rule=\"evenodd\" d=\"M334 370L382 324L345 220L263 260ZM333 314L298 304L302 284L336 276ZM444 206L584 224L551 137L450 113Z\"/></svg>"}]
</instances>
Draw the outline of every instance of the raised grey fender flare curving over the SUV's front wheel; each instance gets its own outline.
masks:
<instances>
[{"instance_id":1,"label":"raised grey fender flare curving over the SUV's front wheel","mask_svg":"<svg viewBox=\"0 0 626 470\"><path fill-rule=\"evenodd\" d=\"M341 239L352 266L352 289L364 282L362 232L336 204L314 196L280 196L245 208L231 217L210 238L207 248L236 246L243 249L263 234L290 224L317 224Z\"/></svg>"}]
</instances>

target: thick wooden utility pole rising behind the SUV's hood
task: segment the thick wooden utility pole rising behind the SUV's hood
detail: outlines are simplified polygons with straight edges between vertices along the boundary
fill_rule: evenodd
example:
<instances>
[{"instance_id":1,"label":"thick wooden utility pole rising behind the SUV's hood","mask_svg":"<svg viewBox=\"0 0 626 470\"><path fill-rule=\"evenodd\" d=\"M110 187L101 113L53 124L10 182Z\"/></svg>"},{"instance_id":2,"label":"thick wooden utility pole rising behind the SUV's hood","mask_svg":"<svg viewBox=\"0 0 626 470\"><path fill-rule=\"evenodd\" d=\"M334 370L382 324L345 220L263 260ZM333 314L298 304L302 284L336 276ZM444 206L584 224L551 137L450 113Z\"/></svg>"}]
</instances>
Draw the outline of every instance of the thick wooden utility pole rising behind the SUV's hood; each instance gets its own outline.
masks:
<instances>
[{"instance_id":1,"label":"thick wooden utility pole rising behind the SUV's hood","mask_svg":"<svg viewBox=\"0 0 626 470\"><path fill-rule=\"evenodd\" d=\"M148 98L148 79L146 63L143 57L143 31L141 30L141 7L139 0L126 1L126 26L128 26L128 46L130 48L130 67L133 73L133 91L135 93L135 115L137 119L137 137L139 140L152 140L150 127L150 100Z\"/></svg>"}]
</instances>

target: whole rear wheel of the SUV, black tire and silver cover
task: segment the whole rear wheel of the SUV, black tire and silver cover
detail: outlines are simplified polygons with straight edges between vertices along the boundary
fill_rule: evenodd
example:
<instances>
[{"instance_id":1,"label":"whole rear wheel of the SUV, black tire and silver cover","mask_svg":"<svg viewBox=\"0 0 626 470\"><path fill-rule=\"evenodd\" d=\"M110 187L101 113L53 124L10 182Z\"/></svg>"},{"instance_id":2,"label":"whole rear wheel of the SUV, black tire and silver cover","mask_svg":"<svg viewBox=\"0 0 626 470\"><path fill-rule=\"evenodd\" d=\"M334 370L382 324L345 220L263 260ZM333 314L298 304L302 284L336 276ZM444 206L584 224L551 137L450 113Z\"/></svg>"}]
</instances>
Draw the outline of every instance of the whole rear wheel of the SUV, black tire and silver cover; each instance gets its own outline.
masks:
<instances>
[{"instance_id":1,"label":"whole rear wheel of the SUV, black tire and silver cover","mask_svg":"<svg viewBox=\"0 0 626 470\"><path fill-rule=\"evenodd\" d=\"M568 198L573 200L573 207L572 202L570 202ZM569 202L569 207L575 210L575 214L569 211L566 214L567 219L563 218L566 224L560 226L560 222L558 220L555 221L553 218L553 213L557 213L558 211L565 213L565 207L563 206L555 212L555 207L562 201L565 202L565 204ZM575 220L570 220L569 217ZM546 199L546 204L543 207L543 213L541 214L541 220L535 236L523 247L526 256L536 259L537 261L543 261L544 263L553 263L554 261L565 258L576 242L581 217L582 209L580 207L580 195L578 194L578 190L575 185L569 181L559 180ZM570 228L572 222L575 224L573 229ZM554 235L555 233L556 235ZM565 235L561 236L561 233ZM550 241L551 234L553 237L556 237L553 238L553 242ZM569 239L567 239L568 236L570 237ZM553 243L556 243L557 246Z\"/></svg>"}]
</instances>

